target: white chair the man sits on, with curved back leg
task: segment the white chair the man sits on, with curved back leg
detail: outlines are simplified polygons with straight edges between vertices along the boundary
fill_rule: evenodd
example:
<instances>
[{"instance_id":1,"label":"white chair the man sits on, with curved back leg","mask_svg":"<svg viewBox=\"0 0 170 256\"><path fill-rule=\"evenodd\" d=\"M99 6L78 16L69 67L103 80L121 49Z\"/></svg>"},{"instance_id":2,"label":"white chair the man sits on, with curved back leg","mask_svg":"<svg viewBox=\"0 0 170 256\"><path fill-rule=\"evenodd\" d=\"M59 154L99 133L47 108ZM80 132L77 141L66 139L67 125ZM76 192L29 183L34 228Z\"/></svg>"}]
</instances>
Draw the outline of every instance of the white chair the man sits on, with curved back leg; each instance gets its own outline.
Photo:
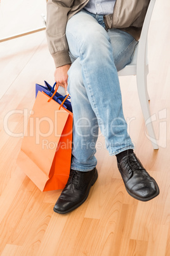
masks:
<instances>
[{"instance_id":1,"label":"white chair the man sits on, with curved back leg","mask_svg":"<svg viewBox=\"0 0 170 256\"><path fill-rule=\"evenodd\" d=\"M157 139L155 138L155 132L151 120L150 108L149 108L149 96L147 90L147 75L148 75L148 59L147 59L147 35L148 28L150 24L150 19L152 16L152 11L154 9L156 0L150 0L148 6L147 15L143 24L141 31L141 37L136 50L134 52L134 57L128 66L118 72L119 76L129 76L136 75L138 96L140 99L141 110L143 112L143 117L145 119L145 125L148 131L148 138L152 142L154 149L158 149Z\"/></svg>"}]
</instances>

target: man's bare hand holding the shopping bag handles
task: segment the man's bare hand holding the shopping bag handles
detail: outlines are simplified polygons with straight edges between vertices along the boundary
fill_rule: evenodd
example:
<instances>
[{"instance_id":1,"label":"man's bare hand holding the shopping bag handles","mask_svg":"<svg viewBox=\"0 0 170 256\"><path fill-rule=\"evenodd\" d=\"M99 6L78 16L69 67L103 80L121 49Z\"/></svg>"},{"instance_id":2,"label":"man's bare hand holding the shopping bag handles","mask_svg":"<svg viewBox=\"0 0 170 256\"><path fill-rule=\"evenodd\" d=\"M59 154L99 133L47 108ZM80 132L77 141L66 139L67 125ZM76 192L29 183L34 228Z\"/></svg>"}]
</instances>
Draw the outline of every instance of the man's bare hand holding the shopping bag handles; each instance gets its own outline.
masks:
<instances>
[{"instance_id":1,"label":"man's bare hand holding the shopping bag handles","mask_svg":"<svg viewBox=\"0 0 170 256\"><path fill-rule=\"evenodd\" d=\"M68 75L67 72L70 68L70 64L61 66L59 68L55 69L55 82L58 83L58 85L62 86L67 90L67 80L68 80Z\"/></svg>"}]
</instances>

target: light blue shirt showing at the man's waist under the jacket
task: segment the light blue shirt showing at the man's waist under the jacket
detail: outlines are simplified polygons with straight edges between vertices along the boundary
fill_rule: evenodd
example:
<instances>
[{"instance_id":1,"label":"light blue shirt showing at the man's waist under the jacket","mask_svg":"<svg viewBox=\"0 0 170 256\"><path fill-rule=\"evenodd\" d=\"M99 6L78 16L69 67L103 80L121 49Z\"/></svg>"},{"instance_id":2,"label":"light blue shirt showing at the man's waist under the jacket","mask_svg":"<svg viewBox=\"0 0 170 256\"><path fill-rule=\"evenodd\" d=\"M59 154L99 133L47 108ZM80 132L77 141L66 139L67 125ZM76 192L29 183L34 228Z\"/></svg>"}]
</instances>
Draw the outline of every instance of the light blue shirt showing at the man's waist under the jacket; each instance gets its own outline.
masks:
<instances>
[{"instance_id":1,"label":"light blue shirt showing at the man's waist under the jacket","mask_svg":"<svg viewBox=\"0 0 170 256\"><path fill-rule=\"evenodd\" d=\"M98 15L113 13L116 0L89 0L84 9Z\"/></svg>"}]
</instances>

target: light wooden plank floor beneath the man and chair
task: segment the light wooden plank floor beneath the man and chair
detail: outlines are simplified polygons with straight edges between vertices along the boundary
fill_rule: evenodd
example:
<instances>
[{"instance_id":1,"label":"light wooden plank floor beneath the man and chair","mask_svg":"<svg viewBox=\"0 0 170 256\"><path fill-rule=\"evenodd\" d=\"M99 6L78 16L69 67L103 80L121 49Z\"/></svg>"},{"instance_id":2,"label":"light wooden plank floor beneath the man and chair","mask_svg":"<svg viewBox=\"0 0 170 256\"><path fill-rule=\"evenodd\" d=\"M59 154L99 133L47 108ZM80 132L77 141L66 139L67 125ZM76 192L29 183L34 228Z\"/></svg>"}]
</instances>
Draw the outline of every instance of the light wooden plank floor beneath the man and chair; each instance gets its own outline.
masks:
<instances>
[{"instance_id":1,"label":"light wooden plank floor beneath the man and chair","mask_svg":"<svg viewBox=\"0 0 170 256\"><path fill-rule=\"evenodd\" d=\"M11 8L12 1L1 2L0 19L4 20L6 4ZM30 2L34 4L33 1ZM25 9L31 10L30 2L27 1ZM39 6L42 5L41 1L37 2ZM15 5L10 9L11 15L22 8L25 1L13 3ZM44 10L38 8L37 4L35 8L37 13ZM37 18L37 13L35 15L32 11L32 17ZM1 255L170 255L169 13L169 1L164 0L163 3L157 0L148 36L148 92L150 110L155 117L154 128L159 150L153 150L145 135L136 78L120 79L124 115L129 124L128 131L134 142L136 155L160 187L160 195L146 203L128 195L117 169L116 159L108 155L100 136L96 153L99 178L87 201L67 215L53 212L61 190L41 192L16 166L22 143L21 135L27 124L27 120L23 118L23 110L32 109L35 83L43 84L43 80L51 84L54 82L55 66L48 52L45 32L1 43ZM27 19L26 30L33 29L38 23L33 24L31 21L29 27L28 18L23 13L18 18L18 22L22 23L22 31L22 20ZM16 17L12 19L14 24L11 21L5 24L6 27L0 22L2 38L22 32L18 29Z\"/></svg>"}]
</instances>

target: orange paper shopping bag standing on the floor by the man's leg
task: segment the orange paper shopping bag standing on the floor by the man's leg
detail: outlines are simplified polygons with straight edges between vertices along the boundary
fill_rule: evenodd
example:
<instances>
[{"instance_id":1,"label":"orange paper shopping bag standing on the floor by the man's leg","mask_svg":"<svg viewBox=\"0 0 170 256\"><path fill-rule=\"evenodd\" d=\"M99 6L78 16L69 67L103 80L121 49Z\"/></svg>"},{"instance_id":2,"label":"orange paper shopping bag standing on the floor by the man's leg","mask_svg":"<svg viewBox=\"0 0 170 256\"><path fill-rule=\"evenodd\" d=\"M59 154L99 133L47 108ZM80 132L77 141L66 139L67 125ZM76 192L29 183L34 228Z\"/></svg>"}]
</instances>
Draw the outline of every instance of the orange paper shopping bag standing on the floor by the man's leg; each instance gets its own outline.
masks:
<instances>
[{"instance_id":1,"label":"orange paper shopping bag standing on the floor by the man's leg","mask_svg":"<svg viewBox=\"0 0 170 256\"><path fill-rule=\"evenodd\" d=\"M41 191L64 188L70 174L73 115L51 98L38 92L17 159Z\"/></svg>"}]
</instances>

